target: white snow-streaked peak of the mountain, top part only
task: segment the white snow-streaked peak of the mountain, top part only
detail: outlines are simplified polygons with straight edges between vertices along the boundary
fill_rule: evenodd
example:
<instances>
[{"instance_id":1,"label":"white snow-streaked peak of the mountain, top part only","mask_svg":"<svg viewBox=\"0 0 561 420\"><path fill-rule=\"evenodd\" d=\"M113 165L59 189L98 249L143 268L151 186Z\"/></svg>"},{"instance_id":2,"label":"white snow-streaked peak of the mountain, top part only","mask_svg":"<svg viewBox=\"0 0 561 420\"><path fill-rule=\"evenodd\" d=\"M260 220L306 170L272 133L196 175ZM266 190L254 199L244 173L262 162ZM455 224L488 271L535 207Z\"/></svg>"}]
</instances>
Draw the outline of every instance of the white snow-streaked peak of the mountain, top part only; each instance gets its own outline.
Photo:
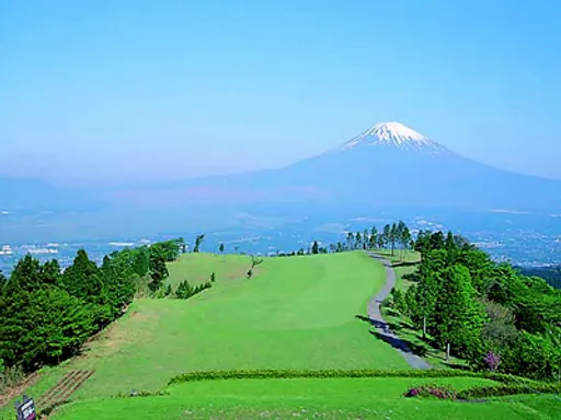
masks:
<instances>
[{"instance_id":1,"label":"white snow-streaked peak of the mountain, top part only","mask_svg":"<svg viewBox=\"0 0 561 420\"><path fill-rule=\"evenodd\" d=\"M401 150L440 154L447 149L401 122L379 122L351 139L340 150L363 145L391 147Z\"/></svg>"}]
</instances>

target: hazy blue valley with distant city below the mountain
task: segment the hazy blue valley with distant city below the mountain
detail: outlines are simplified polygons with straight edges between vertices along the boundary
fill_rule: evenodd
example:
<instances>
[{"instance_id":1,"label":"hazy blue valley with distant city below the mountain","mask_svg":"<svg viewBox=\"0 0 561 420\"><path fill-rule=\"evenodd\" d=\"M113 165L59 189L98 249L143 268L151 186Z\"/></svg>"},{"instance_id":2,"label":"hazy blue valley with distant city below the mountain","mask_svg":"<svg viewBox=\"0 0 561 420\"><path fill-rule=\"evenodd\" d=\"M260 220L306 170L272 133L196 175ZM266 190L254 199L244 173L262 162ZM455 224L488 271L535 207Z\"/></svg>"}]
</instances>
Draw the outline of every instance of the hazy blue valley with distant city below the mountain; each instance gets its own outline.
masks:
<instances>
[{"instance_id":1,"label":"hazy blue valley with distant city below the mountain","mask_svg":"<svg viewBox=\"0 0 561 420\"><path fill-rule=\"evenodd\" d=\"M432 217L415 217L414 211L403 211L403 220L415 234L419 230L447 231L453 230L468 237L481 249L486 250L495 260L508 260L514 265L526 267L543 267L559 265L561 255L561 226L558 214L531 214L527 212L494 210L486 213L478 212L449 212L443 211L440 215L434 210ZM426 212L427 214L430 212ZM207 241L204 249L217 252L218 245L224 243L227 253L248 253L260 255L276 255L278 252L290 252L304 247L308 248L313 241L323 244L343 241L346 232L363 231L365 228L377 226L393 220L393 214L399 218L399 211L379 210L367 217L316 217L316 218L273 218L259 213L240 213L232 219L229 226L213 229L211 224L202 225L203 231L191 229L158 231L158 226L146 223L131 225L136 230L128 236L114 237L95 236L80 237L81 232L72 232L67 237L56 235L56 226L65 224L65 214L50 213L45 218L45 224L53 225L53 241L24 242L22 237L13 237L12 241L0 243L0 269L10 272L13 264L25 254L32 254L39 260L56 258L62 267L71 264L76 252L84 248L90 257L101 262L104 255L125 247L137 247L174 237L184 237L186 243L192 243L196 234L204 232ZM3 232L10 232L22 220L28 220L32 215L18 217L18 213L4 214L0 219ZM42 215L32 217L38 225L42 225ZM88 214L83 215L85 225ZM176 222L181 225L181 215L170 213L170 225ZM107 220L111 220L108 218ZM192 223L196 223L196 219ZM116 232L119 231L113 224ZM101 228L101 226L100 226ZM45 228L44 228L45 229ZM144 232L142 232L144 231ZM31 237L37 235L41 229L33 230ZM142 233L147 235L142 236ZM0 237L0 241L2 238Z\"/></svg>"}]
</instances>

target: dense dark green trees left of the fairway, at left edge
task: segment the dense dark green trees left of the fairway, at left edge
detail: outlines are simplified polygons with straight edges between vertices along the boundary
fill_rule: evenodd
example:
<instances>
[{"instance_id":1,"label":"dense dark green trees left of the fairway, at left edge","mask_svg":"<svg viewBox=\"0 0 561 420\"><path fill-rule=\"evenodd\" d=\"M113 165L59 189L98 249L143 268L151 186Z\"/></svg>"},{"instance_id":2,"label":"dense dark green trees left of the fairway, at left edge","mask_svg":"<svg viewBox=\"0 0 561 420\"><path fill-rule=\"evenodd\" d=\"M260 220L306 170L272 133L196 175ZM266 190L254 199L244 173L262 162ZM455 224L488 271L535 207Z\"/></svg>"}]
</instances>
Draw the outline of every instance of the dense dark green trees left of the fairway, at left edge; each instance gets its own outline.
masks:
<instances>
[{"instance_id":1,"label":"dense dark green trees left of the fairway, at left edge","mask_svg":"<svg viewBox=\"0 0 561 420\"><path fill-rule=\"evenodd\" d=\"M78 353L95 332L122 316L135 293L161 287L167 261L183 241L112 253L101 266L84 249L61 269L31 255L9 278L0 272L0 365L32 372Z\"/></svg>"}]
</instances>

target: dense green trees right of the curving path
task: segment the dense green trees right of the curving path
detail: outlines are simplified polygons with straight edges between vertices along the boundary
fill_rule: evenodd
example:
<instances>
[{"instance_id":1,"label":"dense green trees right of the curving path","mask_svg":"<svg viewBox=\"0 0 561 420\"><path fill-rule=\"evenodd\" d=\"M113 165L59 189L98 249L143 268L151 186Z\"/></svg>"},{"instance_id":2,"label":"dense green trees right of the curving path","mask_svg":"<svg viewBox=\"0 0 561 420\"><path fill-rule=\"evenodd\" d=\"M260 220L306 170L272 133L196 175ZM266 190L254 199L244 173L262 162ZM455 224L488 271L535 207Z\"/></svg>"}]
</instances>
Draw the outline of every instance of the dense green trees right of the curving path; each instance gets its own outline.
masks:
<instances>
[{"instance_id":1,"label":"dense green trees right of the curving path","mask_svg":"<svg viewBox=\"0 0 561 420\"><path fill-rule=\"evenodd\" d=\"M421 231L421 264L396 306L424 336L476 369L561 376L561 291L522 275L466 238Z\"/></svg>"}]
</instances>

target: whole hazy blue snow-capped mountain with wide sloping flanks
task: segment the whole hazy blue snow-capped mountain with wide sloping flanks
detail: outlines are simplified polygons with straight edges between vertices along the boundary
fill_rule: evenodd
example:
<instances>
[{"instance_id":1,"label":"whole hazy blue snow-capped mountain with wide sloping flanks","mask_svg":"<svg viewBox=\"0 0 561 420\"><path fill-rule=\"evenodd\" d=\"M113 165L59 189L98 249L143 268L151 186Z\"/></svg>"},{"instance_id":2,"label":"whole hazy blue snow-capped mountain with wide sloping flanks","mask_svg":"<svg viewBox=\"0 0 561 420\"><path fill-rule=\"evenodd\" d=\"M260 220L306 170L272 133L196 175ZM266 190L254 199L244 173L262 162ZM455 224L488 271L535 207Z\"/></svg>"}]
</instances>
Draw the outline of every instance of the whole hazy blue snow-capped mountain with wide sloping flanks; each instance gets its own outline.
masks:
<instances>
[{"instance_id":1,"label":"whole hazy blue snow-capped mountain with wide sloping flanks","mask_svg":"<svg viewBox=\"0 0 561 420\"><path fill-rule=\"evenodd\" d=\"M403 124L381 122L339 148L282 168L169 183L149 191L129 191L126 198L136 205L290 206L302 211L337 207L557 211L561 180L492 167Z\"/></svg>"}]
</instances>

